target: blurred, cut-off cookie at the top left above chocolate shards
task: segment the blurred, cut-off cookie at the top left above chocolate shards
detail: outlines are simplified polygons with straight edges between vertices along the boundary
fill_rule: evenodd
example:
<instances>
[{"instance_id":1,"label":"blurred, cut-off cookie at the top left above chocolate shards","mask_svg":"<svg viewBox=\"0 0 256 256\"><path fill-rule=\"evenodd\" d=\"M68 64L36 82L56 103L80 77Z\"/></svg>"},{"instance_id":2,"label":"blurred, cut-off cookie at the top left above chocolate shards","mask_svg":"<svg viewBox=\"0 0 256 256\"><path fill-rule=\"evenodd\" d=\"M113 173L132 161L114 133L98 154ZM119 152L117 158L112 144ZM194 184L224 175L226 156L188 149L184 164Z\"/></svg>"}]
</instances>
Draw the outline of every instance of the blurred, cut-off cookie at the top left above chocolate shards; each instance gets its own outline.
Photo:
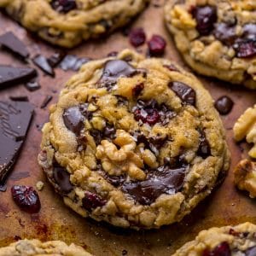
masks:
<instances>
[{"instance_id":1,"label":"blurred, cut-off cookie at the top left above chocolate shards","mask_svg":"<svg viewBox=\"0 0 256 256\"><path fill-rule=\"evenodd\" d=\"M51 44L71 48L125 26L148 0L2 0L20 24Z\"/></svg>"}]
</instances>

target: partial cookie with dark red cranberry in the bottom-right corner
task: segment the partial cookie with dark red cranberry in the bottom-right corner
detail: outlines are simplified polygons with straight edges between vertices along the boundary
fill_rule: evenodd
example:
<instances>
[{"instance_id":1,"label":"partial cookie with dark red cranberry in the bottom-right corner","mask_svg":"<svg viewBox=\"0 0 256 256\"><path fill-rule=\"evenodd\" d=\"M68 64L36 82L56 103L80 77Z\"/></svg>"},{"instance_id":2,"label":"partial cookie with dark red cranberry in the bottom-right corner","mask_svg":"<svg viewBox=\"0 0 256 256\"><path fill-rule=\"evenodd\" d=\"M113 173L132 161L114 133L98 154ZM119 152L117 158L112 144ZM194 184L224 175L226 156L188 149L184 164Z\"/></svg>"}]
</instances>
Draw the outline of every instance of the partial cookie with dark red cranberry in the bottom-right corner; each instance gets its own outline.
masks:
<instances>
[{"instance_id":1,"label":"partial cookie with dark red cranberry in the bottom-right corner","mask_svg":"<svg viewBox=\"0 0 256 256\"><path fill-rule=\"evenodd\" d=\"M172 256L253 256L256 255L256 225L239 224L201 231Z\"/></svg>"}]
</instances>

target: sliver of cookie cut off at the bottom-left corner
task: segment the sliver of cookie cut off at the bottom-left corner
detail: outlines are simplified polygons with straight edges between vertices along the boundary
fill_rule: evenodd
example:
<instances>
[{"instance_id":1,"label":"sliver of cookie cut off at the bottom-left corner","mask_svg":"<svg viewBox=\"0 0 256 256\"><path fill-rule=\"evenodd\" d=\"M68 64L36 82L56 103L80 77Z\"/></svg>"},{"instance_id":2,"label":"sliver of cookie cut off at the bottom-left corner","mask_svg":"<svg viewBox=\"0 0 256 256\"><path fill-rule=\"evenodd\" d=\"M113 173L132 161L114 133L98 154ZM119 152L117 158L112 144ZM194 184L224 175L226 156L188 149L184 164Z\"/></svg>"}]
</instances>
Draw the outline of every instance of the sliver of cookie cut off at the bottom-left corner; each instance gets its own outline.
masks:
<instances>
[{"instance_id":1,"label":"sliver of cookie cut off at the bottom-left corner","mask_svg":"<svg viewBox=\"0 0 256 256\"><path fill-rule=\"evenodd\" d=\"M20 240L0 248L0 256L90 256L84 248L63 241Z\"/></svg>"}]
</instances>

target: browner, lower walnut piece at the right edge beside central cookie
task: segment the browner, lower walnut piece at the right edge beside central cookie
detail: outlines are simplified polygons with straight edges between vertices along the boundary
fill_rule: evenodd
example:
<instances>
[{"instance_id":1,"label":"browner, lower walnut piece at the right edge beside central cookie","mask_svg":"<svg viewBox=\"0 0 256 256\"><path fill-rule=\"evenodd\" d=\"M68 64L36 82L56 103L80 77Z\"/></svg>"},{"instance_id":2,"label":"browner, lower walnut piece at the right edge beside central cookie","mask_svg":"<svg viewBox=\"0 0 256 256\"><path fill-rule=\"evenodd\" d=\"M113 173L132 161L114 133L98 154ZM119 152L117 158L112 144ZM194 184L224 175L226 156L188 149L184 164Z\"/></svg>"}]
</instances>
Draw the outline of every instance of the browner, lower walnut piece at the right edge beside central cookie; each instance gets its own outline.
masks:
<instances>
[{"instance_id":1,"label":"browner, lower walnut piece at the right edge beside central cookie","mask_svg":"<svg viewBox=\"0 0 256 256\"><path fill-rule=\"evenodd\" d=\"M256 197L256 162L241 160L234 170L238 189L247 190L250 197Z\"/></svg>"}]
</instances>

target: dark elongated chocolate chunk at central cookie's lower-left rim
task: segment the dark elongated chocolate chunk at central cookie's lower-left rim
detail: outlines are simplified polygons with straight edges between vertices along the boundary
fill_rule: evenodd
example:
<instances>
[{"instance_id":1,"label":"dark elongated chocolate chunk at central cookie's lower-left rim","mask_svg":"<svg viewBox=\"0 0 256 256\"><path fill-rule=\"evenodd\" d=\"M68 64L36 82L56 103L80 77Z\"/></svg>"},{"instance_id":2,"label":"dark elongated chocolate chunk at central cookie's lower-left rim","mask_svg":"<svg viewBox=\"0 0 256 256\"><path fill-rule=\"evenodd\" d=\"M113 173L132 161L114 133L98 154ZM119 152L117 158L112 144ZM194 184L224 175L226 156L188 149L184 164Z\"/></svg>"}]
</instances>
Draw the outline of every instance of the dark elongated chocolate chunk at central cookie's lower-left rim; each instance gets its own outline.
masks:
<instances>
[{"instance_id":1,"label":"dark elongated chocolate chunk at central cookie's lower-left rim","mask_svg":"<svg viewBox=\"0 0 256 256\"><path fill-rule=\"evenodd\" d=\"M68 194L73 189L69 177L69 172L55 161L53 164L53 178L55 183L59 186L59 192L63 195Z\"/></svg>"}]
</instances>

